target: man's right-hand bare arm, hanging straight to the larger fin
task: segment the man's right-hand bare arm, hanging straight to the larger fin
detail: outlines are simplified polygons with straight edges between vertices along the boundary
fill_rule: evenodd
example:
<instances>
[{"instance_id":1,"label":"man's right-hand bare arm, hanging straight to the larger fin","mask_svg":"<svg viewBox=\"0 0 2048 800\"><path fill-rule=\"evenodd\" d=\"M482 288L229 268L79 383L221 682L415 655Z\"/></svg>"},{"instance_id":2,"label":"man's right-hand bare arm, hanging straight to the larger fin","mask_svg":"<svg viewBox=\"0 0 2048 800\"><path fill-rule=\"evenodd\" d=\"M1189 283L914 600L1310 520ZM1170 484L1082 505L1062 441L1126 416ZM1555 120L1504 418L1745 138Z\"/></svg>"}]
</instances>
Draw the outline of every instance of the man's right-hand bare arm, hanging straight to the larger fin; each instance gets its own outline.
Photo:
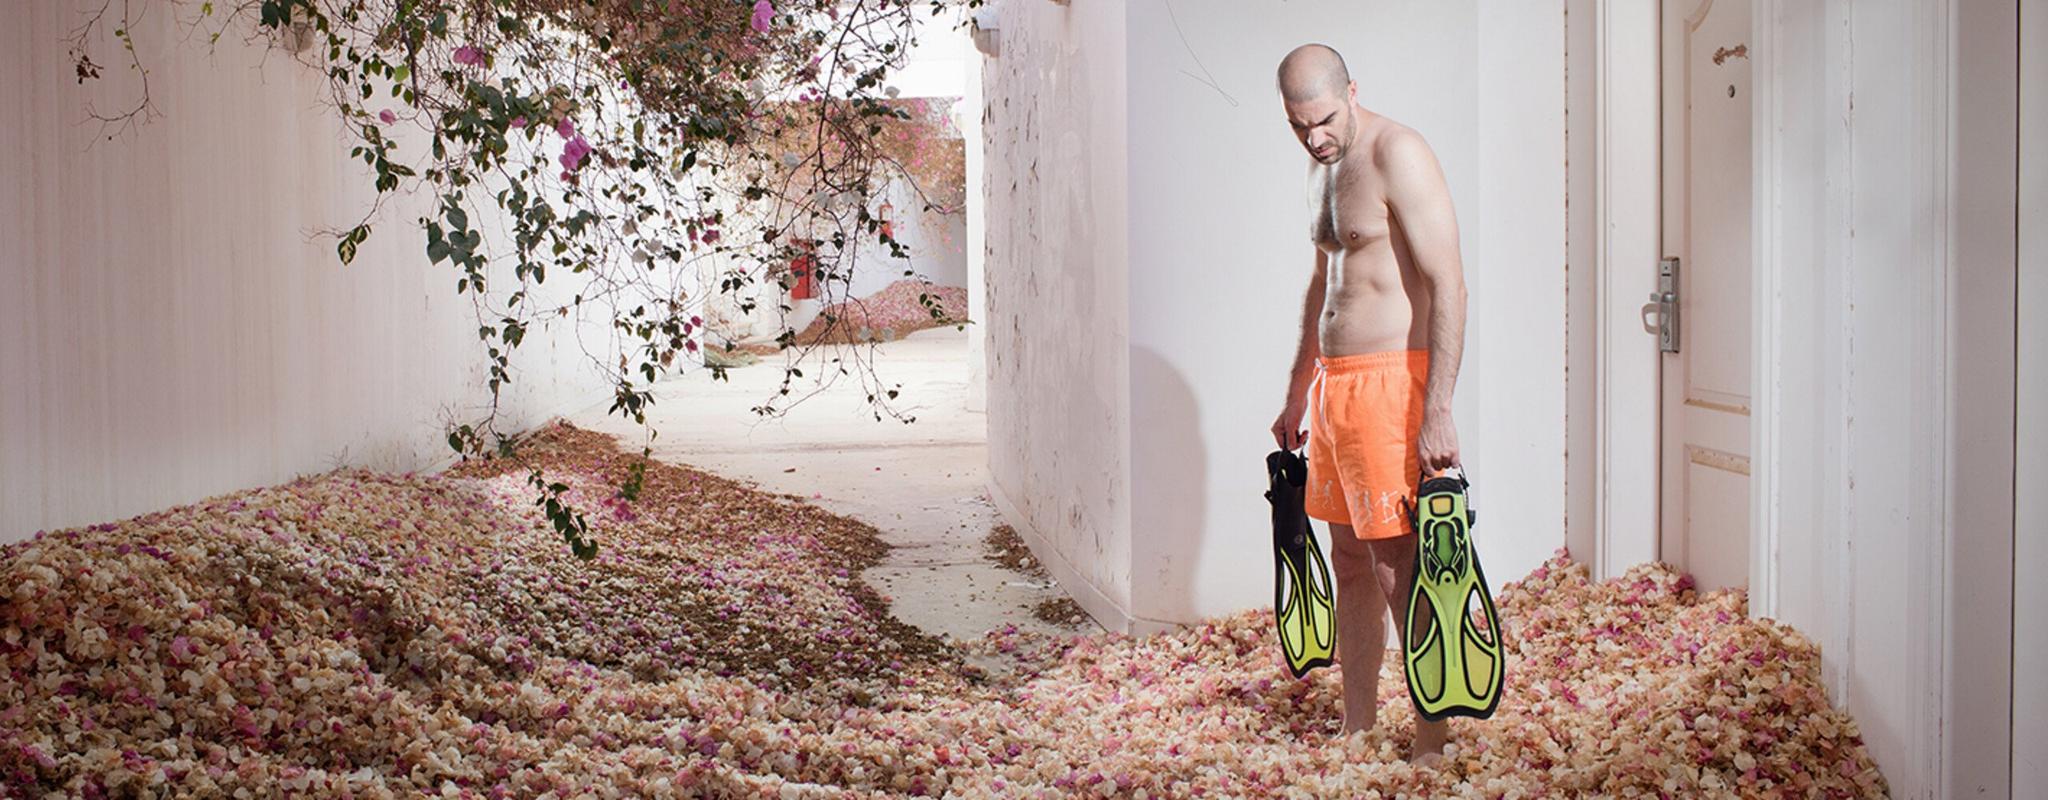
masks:
<instances>
[{"instance_id":1,"label":"man's right-hand bare arm, hanging straight to the larger fin","mask_svg":"<svg viewBox=\"0 0 2048 800\"><path fill-rule=\"evenodd\" d=\"M1458 256L1458 217L1436 153L1421 135L1403 131L1386 143L1386 205L1415 270L1430 293L1430 379L1417 450L1427 469L1458 464L1458 430L1450 421L1450 395L1464 356L1464 266Z\"/></svg>"}]
</instances>

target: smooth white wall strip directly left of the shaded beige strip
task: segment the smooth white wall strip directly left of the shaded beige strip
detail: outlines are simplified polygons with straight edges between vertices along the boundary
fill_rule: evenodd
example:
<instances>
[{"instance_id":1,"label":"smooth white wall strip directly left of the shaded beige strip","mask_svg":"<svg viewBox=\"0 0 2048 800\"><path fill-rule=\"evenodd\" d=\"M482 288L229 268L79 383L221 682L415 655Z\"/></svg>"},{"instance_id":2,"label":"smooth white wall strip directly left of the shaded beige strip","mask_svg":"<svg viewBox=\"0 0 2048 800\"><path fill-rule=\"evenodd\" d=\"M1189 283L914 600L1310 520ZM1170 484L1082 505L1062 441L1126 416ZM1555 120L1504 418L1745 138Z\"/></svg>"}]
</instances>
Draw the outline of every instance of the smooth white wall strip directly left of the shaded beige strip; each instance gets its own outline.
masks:
<instances>
[{"instance_id":1,"label":"smooth white wall strip directly left of the shaded beige strip","mask_svg":"<svg viewBox=\"0 0 2048 800\"><path fill-rule=\"evenodd\" d=\"M1845 706L1907 798L1939 782L1946 23L1935 2L1849 14Z\"/></svg>"}]
</instances>

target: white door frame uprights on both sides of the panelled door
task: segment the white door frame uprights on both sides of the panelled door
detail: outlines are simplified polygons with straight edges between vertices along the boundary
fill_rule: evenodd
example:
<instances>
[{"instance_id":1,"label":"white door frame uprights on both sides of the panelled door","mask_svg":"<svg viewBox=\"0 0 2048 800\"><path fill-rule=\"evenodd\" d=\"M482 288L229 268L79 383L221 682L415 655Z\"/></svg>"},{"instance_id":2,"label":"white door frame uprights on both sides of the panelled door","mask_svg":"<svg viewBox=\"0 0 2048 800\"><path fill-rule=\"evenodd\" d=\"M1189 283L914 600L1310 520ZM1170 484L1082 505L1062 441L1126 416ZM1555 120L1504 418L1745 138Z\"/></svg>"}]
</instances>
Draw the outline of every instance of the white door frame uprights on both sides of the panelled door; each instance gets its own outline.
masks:
<instances>
[{"instance_id":1,"label":"white door frame uprights on both sides of the panelled door","mask_svg":"<svg viewBox=\"0 0 2048 800\"><path fill-rule=\"evenodd\" d=\"M1702 0L1712 2L1712 0ZM1751 407L1749 614L1778 614L1778 466L1782 329L1778 229L1776 0L1751 16ZM1661 2L1593 0L1593 573L1614 577L1661 561L1661 421L1657 338L1642 301L1657 288L1663 192ZM1810 477L1808 481L1812 481Z\"/></svg>"}]
</instances>

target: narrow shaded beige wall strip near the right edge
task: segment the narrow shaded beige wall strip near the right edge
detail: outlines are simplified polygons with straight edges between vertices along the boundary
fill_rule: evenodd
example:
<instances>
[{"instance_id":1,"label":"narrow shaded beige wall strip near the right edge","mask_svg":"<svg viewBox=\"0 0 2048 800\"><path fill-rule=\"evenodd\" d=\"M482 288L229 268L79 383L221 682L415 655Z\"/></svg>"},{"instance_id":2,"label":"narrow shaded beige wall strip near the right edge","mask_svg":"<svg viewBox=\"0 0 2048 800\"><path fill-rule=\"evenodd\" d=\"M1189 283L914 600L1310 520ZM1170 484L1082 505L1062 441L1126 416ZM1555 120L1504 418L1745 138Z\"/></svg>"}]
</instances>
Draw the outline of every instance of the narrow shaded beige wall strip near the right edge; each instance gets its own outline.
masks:
<instances>
[{"instance_id":1,"label":"narrow shaded beige wall strip near the right edge","mask_svg":"<svg viewBox=\"0 0 2048 800\"><path fill-rule=\"evenodd\" d=\"M2019 194L2019 0L1948 4L1948 587L1942 782L2009 798L2013 710L2013 399ZM2032 616L2030 616L2032 618ZM2038 618L2032 618L2040 624ZM2028 671L2036 671L2028 667Z\"/></svg>"}]
</instances>

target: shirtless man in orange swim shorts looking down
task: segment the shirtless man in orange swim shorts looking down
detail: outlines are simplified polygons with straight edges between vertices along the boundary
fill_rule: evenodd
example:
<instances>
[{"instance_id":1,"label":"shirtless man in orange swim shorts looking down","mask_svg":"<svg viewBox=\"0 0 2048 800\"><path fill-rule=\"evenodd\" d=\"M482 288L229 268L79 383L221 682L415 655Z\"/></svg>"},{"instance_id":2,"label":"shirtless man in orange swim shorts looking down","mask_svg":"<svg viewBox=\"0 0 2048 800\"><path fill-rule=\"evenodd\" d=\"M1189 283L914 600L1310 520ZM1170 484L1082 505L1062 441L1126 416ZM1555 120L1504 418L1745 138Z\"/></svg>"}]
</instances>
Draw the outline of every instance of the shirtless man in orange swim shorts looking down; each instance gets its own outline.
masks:
<instances>
[{"instance_id":1,"label":"shirtless man in orange swim shorts looking down","mask_svg":"<svg viewBox=\"0 0 2048 800\"><path fill-rule=\"evenodd\" d=\"M1458 221L1436 153L1413 129L1358 104L1337 51L1290 51L1280 96L1311 158L1315 278L1272 432L1288 450L1309 442L1305 505L1329 522L1333 540L1343 732L1370 730L1386 616L1393 610L1401 630L1415 569L1403 501L1413 501L1423 469L1458 464ZM1442 759L1446 737L1446 722L1417 714L1409 759Z\"/></svg>"}]
</instances>

